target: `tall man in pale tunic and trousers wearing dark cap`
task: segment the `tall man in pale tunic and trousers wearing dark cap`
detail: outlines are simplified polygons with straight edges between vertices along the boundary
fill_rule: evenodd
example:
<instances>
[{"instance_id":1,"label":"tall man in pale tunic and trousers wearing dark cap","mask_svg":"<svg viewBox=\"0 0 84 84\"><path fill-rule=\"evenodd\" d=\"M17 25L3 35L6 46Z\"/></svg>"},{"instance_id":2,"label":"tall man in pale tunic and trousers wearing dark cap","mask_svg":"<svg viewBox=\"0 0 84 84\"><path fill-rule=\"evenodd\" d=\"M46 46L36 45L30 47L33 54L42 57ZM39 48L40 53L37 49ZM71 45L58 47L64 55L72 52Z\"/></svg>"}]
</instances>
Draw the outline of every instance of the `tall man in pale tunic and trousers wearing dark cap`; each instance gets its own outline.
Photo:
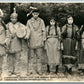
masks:
<instances>
[{"instance_id":1,"label":"tall man in pale tunic and trousers wearing dark cap","mask_svg":"<svg viewBox=\"0 0 84 84\"><path fill-rule=\"evenodd\" d=\"M27 21L27 28L30 29L29 37L29 74L42 74L42 57L44 41L46 40L45 24L39 17L39 10L34 9L32 18Z\"/></svg>"}]
</instances>

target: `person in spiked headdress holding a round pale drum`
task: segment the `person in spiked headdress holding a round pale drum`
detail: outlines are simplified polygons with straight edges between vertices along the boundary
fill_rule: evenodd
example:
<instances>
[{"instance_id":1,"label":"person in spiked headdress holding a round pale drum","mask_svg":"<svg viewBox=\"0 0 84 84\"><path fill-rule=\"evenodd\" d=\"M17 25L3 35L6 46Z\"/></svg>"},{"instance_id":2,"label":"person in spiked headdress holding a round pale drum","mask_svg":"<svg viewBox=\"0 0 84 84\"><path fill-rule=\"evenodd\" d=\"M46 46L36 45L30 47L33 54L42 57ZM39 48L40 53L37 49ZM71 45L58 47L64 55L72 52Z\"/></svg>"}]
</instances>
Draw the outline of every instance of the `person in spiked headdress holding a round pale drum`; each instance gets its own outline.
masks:
<instances>
[{"instance_id":1,"label":"person in spiked headdress holding a round pale drum","mask_svg":"<svg viewBox=\"0 0 84 84\"><path fill-rule=\"evenodd\" d=\"M7 63L8 75L20 75L20 57L22 51L22 38L26 35L26 27L17 21L18 14L14 12L10 16L11 22L7 24L6 45L8 50Z\"/></svg>"}]
</instances>

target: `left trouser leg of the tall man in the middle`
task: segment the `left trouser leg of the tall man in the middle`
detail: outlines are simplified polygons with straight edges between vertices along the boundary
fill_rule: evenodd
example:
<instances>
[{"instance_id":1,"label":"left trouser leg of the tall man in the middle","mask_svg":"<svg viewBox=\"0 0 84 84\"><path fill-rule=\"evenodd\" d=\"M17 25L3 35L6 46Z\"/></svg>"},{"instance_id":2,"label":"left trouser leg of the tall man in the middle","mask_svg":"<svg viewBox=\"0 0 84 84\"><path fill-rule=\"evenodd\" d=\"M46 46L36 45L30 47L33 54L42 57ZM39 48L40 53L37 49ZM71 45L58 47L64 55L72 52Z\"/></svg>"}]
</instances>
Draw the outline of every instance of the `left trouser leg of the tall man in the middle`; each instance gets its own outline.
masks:
<instances>
[{"instance_id":1,"label":"left trouser leg of the tall man in the middle","mask_svg":"<svg viewBox=\"0 0 84 84\"><path fill-rule=\"evenodd\" d=\"M36 55L35 49L29 49L28 73L36 73Z\"/></svg>"}]
</instances>

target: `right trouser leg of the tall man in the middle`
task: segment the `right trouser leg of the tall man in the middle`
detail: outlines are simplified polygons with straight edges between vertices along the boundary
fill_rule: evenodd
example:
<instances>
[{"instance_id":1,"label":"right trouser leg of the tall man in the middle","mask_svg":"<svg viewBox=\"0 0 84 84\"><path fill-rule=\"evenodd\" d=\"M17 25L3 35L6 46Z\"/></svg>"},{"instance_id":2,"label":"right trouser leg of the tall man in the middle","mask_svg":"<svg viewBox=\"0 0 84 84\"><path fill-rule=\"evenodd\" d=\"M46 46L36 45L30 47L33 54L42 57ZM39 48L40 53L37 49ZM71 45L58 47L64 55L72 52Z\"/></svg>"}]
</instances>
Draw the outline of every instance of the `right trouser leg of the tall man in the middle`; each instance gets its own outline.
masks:
<instances>
[{"instance_id":1,"label":"right trouser leg of the tall man in the middle","mask_svg":"<svg viewBox=\"0 0 84 84\"><path fill-rule=\"evenodd\" d=\"M42 56L43 56L43 48L36 49L37 72L39 74L42 74Z\"/></svg>"}]
</instances>

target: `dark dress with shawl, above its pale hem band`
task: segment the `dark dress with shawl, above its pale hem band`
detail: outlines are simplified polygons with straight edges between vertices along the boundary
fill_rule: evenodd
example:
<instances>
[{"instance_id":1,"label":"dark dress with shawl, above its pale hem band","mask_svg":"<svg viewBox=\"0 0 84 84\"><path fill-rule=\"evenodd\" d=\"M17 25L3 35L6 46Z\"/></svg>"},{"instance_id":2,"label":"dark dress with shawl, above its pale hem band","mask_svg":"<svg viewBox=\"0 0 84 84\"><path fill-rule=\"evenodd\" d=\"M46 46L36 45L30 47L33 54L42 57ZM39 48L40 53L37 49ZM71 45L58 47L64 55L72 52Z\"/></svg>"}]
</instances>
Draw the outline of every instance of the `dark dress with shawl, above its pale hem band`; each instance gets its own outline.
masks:
<instances>
[{"instance_id":1,"label":"dark dress with shawl, above its pale hem band","mask_svg":"<svg viewBox=\"0 0 84 84\"><path fill-rule=\"evenodd\" d=\"M65 55L73 55L76 47L76 33L78 31L78 27L76 25L66 24L62 28L62 37L63 45L64 45L64 54Z\"/></svg>"}]
</instances>

